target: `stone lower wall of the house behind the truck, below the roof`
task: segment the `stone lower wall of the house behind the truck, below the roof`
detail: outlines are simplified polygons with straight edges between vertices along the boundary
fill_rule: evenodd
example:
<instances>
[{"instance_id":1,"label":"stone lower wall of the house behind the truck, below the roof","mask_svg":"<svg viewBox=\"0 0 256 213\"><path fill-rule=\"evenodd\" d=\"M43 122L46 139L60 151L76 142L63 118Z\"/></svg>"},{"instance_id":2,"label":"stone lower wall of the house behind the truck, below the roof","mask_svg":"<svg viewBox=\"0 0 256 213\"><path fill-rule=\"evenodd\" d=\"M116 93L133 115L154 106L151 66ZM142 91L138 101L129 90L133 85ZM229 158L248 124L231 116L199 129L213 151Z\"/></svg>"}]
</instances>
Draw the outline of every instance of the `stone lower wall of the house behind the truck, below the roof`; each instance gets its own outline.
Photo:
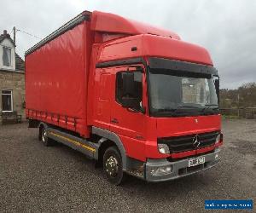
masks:
<instances>
[{"instance_id":1,"label":"stone lower wall of the house behind the truck, below the roof","mask_svg":"<svg viewBox=\"0 0 256 213\"><path fill-rule=\"evenodd\" d=\"M13 90L13 106L14 111L22 115L22 119L26 119L24 101L25 101L25 73L10 72L0 70L0 112L2 112L2 90ZM1 114L1 113L0 113ZM0 124L2 118L0 116Z\"/></svg>"}]
</instances>

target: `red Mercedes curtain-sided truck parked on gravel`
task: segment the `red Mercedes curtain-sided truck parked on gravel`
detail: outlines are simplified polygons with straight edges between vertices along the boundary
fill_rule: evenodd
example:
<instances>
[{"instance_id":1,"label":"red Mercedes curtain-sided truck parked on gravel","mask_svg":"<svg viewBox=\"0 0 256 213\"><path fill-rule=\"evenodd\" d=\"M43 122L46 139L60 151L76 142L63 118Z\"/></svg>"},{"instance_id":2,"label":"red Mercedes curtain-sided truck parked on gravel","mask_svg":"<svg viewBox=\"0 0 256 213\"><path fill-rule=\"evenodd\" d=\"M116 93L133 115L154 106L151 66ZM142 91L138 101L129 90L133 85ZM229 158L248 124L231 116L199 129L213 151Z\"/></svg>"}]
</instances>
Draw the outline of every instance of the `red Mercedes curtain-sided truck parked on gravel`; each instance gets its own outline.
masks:
<instances>
[{"instance_id":1,"label":"red Mercedes curtain-sided truck parked on gravel","mask_svg":"<svg viewBox=\"0 0 256 213\"><path fill-rule=\"evenodd\" d=\"M29 127L95 159L115 185L218 164L218 91L206 49L116 14L84 11L26 51Z\"/></svg>"}]
</instances>

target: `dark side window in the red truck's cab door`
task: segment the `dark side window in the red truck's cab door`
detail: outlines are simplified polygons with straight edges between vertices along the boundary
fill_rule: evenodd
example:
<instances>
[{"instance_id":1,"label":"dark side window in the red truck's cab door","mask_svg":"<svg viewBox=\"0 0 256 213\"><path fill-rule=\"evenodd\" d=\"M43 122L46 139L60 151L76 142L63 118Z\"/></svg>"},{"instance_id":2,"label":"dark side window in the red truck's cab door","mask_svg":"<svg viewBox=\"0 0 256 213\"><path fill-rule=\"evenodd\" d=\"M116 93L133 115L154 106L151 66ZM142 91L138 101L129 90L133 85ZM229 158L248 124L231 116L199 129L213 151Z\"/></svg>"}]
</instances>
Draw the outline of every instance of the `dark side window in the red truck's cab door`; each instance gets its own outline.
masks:
<instances>
[{"instance_id":1,"label":"dark side window in the red truck's cab door","mask_svg":"<svg viewBox=\"0 0 256 213\"><path fill-rule=\"evenodd\" d=\"M125 106L126 102L130 101L133 102L134 108L142 107L143 73L117 72L115 99L122 106Z\"/></svg>"}]
</instances>

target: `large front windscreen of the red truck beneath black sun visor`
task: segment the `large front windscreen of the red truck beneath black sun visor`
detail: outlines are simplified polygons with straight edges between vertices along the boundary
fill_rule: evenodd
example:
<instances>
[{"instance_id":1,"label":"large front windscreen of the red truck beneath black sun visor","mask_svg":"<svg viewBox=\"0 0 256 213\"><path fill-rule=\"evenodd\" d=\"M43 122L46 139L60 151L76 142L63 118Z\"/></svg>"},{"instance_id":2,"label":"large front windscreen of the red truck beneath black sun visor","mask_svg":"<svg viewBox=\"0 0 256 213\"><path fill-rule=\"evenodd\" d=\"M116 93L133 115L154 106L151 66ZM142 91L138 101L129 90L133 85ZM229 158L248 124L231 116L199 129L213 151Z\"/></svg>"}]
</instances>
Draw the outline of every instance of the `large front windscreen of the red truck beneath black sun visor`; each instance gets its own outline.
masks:
<instances>
[{"instance_id":1,"label":"large front windscreen of the red truck beneath black sun visor","mask_svg":"<svg viewBox=\"0 0 256 213\"><path fill-rule=\"evenodd\" d=\"M201 114L218 109L218 97L211 74L151 69L150 111L155 115Z\"/></svg>"}]
</instances>

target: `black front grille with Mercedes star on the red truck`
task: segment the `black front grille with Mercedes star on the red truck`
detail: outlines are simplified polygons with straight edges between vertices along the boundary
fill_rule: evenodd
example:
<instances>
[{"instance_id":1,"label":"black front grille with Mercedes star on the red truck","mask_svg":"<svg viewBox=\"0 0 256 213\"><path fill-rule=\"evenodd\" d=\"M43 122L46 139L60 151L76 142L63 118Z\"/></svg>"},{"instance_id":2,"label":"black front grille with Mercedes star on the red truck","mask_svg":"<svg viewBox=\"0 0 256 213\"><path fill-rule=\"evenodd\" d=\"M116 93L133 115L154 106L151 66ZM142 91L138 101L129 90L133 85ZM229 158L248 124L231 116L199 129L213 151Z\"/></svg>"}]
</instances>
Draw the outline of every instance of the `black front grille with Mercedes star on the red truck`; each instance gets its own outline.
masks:
<instances>
[{"instance_id":1,"label":"black front grille with Mercedes star on the red truck","mask_svg":"<svg viewBox=\"0 0 256 213\"><path fill-rule=\"evenodd\" d=\"M159 138L158 143L164 143L168 145L170 153L181 153L214 145L216 137L219 133L219 131L213 131L202 134ZM195 135L197 135L197 139L200 141L199 146L193 145L195 142Z\"/></svg>"}]
</instances>

